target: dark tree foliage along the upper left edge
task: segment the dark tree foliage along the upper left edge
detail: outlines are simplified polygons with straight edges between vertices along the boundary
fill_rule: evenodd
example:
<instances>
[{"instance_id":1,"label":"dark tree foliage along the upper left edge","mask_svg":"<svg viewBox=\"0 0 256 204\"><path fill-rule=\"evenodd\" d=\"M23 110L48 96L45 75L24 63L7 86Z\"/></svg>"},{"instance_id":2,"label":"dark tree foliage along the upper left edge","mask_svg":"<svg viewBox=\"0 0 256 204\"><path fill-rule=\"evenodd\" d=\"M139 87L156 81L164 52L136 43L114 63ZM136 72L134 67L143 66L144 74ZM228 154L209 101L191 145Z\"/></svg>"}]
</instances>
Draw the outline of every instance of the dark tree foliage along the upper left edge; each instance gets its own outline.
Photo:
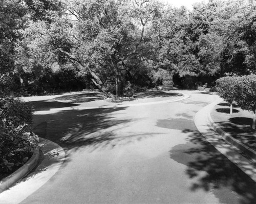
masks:
<instances>
[{"instance_id":1,"label":"dark tree foliage along the upper left edge","mask_svg":"<svg viewBox=\"0 0 256 204\"><path fill-rule=\"evenodd\" d=\"M0 92L16 88L15 44L20 38L18 32L26 23L27 8L19 0L0 1ZM4 76L4 78L3 78Z\"/></svg>"}]
</instances>

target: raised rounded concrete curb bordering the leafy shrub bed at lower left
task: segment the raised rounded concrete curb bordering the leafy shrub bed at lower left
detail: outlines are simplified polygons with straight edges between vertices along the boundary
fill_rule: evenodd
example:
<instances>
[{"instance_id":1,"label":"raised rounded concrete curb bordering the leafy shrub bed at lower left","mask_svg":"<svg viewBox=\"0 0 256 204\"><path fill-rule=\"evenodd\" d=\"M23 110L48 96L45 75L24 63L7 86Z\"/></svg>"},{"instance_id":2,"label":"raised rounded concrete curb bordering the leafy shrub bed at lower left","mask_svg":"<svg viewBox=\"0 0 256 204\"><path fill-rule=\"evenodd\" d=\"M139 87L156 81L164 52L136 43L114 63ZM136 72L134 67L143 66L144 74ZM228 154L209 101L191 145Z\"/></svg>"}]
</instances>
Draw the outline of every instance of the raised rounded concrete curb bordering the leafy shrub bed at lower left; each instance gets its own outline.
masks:
<instances>
[{"instance_id":1,"label":"raised rounded concrete curb bordering the leafy shrub bed at lower left","mask_svg":"<svg viewBox=\"0 0 256 204\"><path fill-rule=\"evenodd\" d=\"M17 183L18 180L22 179L25 175L27 175L37 165L38 161L39 147L36 146L33 155L25 165L23 165L11 175L0 181L0 193L9 189L11 186Z\"/></svg>"}]
</instances>

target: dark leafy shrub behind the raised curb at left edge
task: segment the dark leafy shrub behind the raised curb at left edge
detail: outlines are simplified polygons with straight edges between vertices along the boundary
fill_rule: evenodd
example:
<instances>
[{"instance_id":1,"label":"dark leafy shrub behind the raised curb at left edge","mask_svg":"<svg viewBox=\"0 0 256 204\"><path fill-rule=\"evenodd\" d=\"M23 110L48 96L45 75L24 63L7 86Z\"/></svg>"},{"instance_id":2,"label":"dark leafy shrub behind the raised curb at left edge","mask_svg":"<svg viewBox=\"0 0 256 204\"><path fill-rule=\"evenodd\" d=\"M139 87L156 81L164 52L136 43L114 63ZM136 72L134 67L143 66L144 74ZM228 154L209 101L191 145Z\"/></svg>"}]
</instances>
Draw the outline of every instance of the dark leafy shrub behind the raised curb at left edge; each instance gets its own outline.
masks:
<instances>
[{"instance_id":1,"label":"dark leafy shrub behind the raised curb at left edge","mask_svg":"<svg viewBox=\"0 0 256 204\"><path fill-rule=\"evenodd\" d=\"M0 98L0 172L11 172L25 164L38 141L28 124L31 108L19 99Z\"/></svg>"}]
</instances>

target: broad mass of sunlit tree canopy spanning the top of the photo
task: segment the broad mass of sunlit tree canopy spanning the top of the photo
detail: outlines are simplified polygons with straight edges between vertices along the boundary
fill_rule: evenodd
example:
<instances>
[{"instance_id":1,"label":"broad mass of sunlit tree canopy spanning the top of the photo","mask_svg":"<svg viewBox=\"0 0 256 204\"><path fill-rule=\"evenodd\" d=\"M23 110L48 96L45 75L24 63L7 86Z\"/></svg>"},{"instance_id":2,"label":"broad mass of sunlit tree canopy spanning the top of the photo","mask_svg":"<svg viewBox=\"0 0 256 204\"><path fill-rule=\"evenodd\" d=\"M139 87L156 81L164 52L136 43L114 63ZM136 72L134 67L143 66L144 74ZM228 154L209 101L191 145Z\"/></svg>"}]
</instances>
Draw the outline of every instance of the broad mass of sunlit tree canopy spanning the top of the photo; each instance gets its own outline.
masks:
<instances>
[{"instance_id":1,"label":"broad mass of sunlit tree canopy spanning the top of the photo","mask_svg":"<svg viewBox=\"0 0 256 204\"><path fill-rule=\"evenodd\" d=\"M121 96L128 81L153 82L159 69L253 74L255 7L251 0L210 0L192 11L157 0L0 0L1 87L43 92L91 80L100 89L115 83Z\"/></svg>"}]
</instances>

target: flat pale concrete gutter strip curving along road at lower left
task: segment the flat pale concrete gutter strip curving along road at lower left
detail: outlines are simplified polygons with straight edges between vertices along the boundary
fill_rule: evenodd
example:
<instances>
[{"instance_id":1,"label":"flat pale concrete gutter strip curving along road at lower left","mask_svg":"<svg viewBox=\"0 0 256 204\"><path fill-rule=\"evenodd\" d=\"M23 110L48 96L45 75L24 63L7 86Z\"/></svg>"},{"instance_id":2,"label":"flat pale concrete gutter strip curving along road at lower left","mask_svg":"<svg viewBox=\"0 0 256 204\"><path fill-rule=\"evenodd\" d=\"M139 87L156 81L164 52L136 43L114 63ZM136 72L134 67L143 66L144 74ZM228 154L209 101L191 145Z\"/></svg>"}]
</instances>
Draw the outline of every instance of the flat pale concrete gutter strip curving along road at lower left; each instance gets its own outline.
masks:
<instances>
[{"instance_id":1,"label":"flat pale concrete gutter strip curving along road at lower left","mask_svg":"<svg viewBox=\"0 0 256 204\"><path fill-rule=\"evenodd\" d=\"M65 151L58 144L39 138L38 146L44 155L38 166L25 178L20 179L8 190L0 193L0 203L18 204L45 185L61 168Z\"/></svg>"}]
</instances>

